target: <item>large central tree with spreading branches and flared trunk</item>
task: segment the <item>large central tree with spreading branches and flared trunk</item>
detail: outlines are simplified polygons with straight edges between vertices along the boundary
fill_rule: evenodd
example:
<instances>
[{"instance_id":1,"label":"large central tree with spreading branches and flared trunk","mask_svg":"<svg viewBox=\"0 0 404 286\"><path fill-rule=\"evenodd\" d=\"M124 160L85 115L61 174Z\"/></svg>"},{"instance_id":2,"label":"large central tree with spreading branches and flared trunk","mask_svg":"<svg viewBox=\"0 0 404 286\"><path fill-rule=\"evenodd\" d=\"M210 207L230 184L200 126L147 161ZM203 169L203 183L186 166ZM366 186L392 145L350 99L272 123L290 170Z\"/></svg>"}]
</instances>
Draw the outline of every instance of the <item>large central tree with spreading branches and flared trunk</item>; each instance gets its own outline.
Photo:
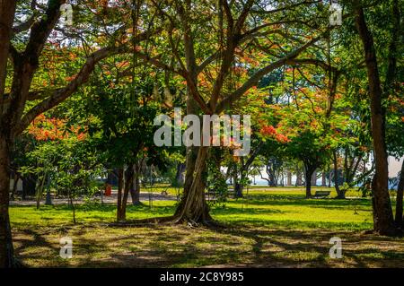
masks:
<instances>
[{"instance_id":1,"label":"large central tree with spreading branches and flared trunk","mask_svg":"<svg viewBox=\"0 0 404 286\"><path fill-rule=\"evenodd\" d=\"M148 59L184 78L188 114L221 114L232 108L265 74L300 56L328 30L328 17L324 17L328 7L318 1L268 5L254 0L168 0L154 5L167 22L159 39L161 42L165 37L168 45L162 55ZM293 29L285 32L286 24ZM261 57L258 47L278 48ZM247 60L244 54L250 55ZM239 68L252 71L240 85L232 81ZM187 150L184 195L174 221L212 222L204 195L208 152L208 147L192 146Z\"/></svg>"}]
</instances>

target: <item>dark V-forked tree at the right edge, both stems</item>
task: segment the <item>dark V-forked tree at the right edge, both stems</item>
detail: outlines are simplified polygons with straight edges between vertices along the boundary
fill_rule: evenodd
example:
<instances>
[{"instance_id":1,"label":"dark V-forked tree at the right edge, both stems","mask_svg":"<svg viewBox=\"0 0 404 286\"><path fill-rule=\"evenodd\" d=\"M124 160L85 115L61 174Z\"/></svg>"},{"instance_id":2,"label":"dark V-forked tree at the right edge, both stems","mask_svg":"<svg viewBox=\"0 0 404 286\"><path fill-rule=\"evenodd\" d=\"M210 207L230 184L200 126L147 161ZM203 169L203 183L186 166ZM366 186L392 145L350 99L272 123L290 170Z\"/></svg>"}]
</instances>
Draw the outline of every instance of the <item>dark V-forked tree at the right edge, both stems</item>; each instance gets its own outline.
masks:
<instances>
[{"instance_id":1,"label":"dark V-forked tree at the right edge, both stems","mask_svg":"<svg viewBox=\"0 0 404 286\"><path fill-rule=\"evenodd\" d=\"M387 7L391 7L393 25L390 31L390 53L388 54L386 75L382 82L380 72L380 56L376 54L373 31L369 29L369 21L365 17L364 5L355 1L356 30L363 44L364 65L369 84L370 109L373 137L373 154L375 173L372 181L373 192L373 229L381 234L396 232L391 199L388 189L388 153L386 147L386 109L383 100L387 99L391 91L391 84L395 82L397 70L397 40L400 36L400 6L398 0L392 0ZM379 50L379 52L381 52Z\"/></svg>"}]
</instances>

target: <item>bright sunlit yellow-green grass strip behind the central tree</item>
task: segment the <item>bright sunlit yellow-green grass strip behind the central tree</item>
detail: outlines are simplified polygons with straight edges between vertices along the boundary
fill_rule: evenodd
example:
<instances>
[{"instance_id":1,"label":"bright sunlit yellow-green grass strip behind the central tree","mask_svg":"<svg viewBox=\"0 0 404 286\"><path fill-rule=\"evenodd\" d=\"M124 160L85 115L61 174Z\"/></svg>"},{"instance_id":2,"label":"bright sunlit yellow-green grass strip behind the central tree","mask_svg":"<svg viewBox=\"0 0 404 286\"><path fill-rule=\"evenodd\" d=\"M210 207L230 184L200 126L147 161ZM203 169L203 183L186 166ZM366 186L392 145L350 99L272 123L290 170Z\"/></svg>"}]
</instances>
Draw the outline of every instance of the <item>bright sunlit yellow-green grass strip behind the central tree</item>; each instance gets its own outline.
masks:
<instances>
[{"instance_id":1,"label":"bright sunlit yellow-green grass strip behind the central tree","mask_svg":"<svg viewBox=\"0 0 404 286\"><path fill-rule=\"evenodd\" d=\"M127 219L137 220L155 216L169 216L175 210L173 201L155 201L153 208L148 204L128 206ZM69 224L73 212L67 205L10 207L14 226L24 224L54 225ZM333 200L310 199L303 195L271 192L270 194L249 194L248 198L229 200L226 206L212 207L216 220L225 223L274 225L287 228L338 228L365 230L372 227L372 213L368 199ZM113 222L116 207L112 204L82 204L75 207L76 221L80 223Z\"/></svg>"}]
</instances>

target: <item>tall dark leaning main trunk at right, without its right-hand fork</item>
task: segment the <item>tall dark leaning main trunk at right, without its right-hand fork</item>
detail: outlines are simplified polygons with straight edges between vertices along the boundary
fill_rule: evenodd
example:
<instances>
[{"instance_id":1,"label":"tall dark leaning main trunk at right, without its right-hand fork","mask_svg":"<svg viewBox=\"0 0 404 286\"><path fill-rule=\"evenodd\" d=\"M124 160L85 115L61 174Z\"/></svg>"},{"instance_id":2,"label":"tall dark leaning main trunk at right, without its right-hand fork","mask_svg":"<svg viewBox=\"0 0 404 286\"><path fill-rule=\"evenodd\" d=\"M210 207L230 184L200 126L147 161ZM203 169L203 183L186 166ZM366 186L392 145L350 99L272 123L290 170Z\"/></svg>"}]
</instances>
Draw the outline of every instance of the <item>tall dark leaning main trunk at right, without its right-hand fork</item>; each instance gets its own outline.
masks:
<instances>
[{"instance_id":1,"label":"tall dark leaning main trunk at right, without its right-hand fork","mask_svg":"<svg viewBox=\"0 0 404 286\"><path fill-rule=\"evenodd\" d=\"M375 173L372 181L373 229L380 234L395 233L391 200L388 190L388 161L385 143L385 110L382 107L382 87L373 44L373 36L367 28L364 9L356 1L356 28L364 45L364 57L371 96L371 123Z\"/></svg>"}]
</instances>

